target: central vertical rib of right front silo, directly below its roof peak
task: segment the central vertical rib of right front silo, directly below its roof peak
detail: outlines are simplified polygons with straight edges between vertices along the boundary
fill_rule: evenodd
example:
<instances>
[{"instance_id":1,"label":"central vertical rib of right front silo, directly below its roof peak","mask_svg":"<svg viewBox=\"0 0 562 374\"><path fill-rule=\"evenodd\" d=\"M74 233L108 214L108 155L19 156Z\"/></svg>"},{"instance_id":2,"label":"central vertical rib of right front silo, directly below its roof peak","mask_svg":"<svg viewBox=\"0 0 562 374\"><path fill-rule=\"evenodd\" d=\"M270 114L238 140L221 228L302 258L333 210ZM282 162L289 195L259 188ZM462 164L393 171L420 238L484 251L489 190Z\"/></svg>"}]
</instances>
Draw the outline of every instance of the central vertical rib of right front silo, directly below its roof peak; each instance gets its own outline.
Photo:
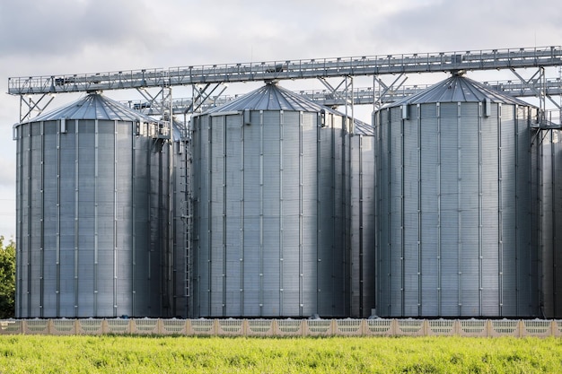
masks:
<instances>
[{"instance_id":1,"label":"central vertical rib of right front silo, directly below its roof peak","mask_svg":"<svg viewBox=\"0 0 562 374\"><path fill-rule=\"evenodd\" d=\"M458 315L462 315L462 134L461 102L457 102L457 274Z\"/></svg>"}]
</instances>

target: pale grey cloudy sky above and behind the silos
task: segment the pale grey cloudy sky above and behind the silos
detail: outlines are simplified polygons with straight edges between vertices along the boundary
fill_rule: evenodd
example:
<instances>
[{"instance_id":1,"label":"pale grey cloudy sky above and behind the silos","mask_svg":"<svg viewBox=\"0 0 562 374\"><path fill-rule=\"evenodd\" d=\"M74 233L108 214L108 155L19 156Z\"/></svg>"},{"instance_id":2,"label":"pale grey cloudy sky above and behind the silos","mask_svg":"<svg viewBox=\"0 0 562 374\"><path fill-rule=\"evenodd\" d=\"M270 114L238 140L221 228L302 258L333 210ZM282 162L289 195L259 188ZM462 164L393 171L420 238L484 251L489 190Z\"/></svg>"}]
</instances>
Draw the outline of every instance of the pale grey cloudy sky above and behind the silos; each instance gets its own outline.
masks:
<instances>
[{"instance_id":1,"label":"pale grey cloudy sky above and behind the silos","mask_svg":"<svg viewBox=\"0 0 562 374\"><path fill-rule=\"evenodd\" d=\"M0 88L15 76L560 46L561 20L559 0L0 0ZM315 88L286 86L299 84ZM228 90L250 91L243 83ZM134 93L106 92L118 100ZM10 238L19 98L2 95L0 235ZM75 99L58 95L49 109Z\"/></svg>"}]
</instances>

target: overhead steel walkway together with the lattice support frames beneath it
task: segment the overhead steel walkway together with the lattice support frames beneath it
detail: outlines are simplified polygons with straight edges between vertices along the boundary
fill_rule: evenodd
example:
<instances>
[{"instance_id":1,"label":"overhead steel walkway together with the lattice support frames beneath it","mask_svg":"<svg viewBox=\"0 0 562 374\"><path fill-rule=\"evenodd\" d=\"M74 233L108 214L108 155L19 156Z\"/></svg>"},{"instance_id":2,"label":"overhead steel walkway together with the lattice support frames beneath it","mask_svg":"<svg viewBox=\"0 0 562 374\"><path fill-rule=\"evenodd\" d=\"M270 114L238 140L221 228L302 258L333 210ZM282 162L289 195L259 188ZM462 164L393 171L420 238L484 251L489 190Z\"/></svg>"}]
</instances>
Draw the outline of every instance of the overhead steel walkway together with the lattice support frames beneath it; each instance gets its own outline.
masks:
<instances>
[{"instance_id":1,"label":"overhead steel walkway together with the lattice support frames beneath it","mask_svg":"<svg viewBox=\"0 0 562 374\"><path fill-rule=\"evenodd\" d=\"M152 114L163 116L170 112L189 114L227 100L228 98L221 97L225 90L224 83L318 79L327 90L303 91L312 100L328 106L371 104L376 109L386 102L426 87L404 86L406 74L510 69L521 82L490 83L490 86L514 96L536 96L540 99L540 109L545 109L549 100L559 111L560 103L551 96L561 94L560 78L547 79L544 75L545 67L551 66L562 66L562 47L336 57L96 74L11 77L8 78L8 93L20 96L20 121L40 114L48 107L55 93L127 89L136 89L145 98L132 104L135 108L150 107ZM538 69L529 80L523 79L516 72L516 69L529 67ZM382 76L388 75L396 76L391 84L382 81ZM356 76L373 76L373 88L356 90L353 87L353 78ZM342 82L333 86L328 82L329 78L340 78ZM172 99L173 86L191 87L192 97ZM149 90L153 88L160 91L151 93Z\"/></svg>"}]
</instances>

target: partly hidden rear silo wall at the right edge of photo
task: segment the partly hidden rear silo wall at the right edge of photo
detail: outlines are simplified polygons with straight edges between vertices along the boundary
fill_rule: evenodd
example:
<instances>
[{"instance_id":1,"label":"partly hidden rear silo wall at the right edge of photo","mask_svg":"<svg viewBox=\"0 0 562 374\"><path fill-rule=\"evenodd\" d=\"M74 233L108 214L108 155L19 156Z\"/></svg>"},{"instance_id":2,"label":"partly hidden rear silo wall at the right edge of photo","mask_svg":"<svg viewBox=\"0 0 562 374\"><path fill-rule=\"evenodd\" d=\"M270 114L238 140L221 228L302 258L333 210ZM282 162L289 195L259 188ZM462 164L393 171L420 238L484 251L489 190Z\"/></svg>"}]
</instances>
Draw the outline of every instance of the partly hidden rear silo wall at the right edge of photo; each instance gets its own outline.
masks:
<instances>
[{"instance_id":1,"label":"partly hidden rear silo wall at the right edge of photo","mask_svg":"<svg viewBox=\"0 0 562 374\"><path fill-rule=\"evenodd\" d=\"M537 216L540 222L542 313L544 317L562 317L562 133L540 130L533 143L538 159L536 184L540 191Z\"/></svg>"}]
</instances>

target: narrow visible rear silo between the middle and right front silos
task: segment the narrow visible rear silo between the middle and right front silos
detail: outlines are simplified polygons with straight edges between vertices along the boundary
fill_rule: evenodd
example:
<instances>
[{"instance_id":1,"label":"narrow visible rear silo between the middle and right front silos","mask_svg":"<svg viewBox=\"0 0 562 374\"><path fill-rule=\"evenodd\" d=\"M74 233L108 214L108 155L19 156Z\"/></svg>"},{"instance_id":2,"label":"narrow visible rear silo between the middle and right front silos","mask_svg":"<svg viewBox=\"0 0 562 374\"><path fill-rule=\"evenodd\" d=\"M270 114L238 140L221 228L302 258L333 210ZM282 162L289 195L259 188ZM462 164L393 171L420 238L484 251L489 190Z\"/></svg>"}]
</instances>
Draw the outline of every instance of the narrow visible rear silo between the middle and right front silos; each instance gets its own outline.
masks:
<instances>
[{"instance_id":1,"label":"narrow visible rear silo between the middle and right front silos","mask_svg":"<svg viewBox=\"0 0 562 374\"><path fill-rule=\"evenodd\" d=\"M356 121L350 146L351 317L369 317L374 305L374 131Z\"/></svg>"}]
</instances>

